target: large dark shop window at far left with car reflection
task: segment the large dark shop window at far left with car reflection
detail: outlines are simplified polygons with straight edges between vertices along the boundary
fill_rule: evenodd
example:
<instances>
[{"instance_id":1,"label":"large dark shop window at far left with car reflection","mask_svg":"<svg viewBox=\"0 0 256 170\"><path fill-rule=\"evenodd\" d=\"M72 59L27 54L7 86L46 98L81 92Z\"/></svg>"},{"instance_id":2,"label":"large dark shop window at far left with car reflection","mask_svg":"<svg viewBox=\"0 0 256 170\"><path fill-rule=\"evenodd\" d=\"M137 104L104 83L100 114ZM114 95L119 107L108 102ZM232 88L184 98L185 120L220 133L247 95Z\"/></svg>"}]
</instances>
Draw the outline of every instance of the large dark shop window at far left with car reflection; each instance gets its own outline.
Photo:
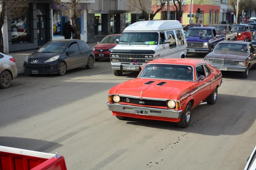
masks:
<instances>
[{"instance_id":1,"label":"large dark shop window at far left with car reflection","mask_svg":"<svg viewBox=\"0 0 256 170\"><path fill-rule=\"evenodd\" d=\"M30 43L29 14L11 19L12 44Z\"/></svg>"}]
</instances>

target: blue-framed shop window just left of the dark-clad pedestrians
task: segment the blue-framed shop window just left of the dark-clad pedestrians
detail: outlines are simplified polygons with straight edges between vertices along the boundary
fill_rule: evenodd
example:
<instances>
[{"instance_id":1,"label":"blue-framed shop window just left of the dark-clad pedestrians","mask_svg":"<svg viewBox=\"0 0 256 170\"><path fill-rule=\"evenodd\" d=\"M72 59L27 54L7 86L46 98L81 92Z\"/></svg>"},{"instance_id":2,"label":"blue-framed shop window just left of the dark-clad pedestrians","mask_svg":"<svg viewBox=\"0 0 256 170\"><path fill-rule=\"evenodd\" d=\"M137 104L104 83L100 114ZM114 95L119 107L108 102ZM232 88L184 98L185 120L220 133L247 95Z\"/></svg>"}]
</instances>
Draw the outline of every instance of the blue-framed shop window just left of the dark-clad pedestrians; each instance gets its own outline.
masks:
<instances>
[{"instance_id":1,"label":"blue-framed shop window just left of the dark-clad pedestrians","mask_svg":"<svg viewBox=\"0 0 256 170\"><path fill-rule=\"evenodd\" d=\"M61 12L60 10L52 10L53 17L53 36L62 35Z\"/></svg>"}]
</instances>

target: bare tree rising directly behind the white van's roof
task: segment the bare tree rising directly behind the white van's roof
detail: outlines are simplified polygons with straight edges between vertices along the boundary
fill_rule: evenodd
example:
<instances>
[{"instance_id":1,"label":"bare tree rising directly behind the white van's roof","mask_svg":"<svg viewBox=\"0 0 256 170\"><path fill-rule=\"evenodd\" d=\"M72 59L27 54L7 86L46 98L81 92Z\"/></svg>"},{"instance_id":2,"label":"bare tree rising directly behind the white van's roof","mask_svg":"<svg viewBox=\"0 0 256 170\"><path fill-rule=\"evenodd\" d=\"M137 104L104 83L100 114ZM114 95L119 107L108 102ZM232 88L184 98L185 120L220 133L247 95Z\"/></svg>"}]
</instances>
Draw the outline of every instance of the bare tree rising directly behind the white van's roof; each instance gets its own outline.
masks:
<instances>
[{"instance_id":1,"label":"bare tree rising directly behind the white van's roof","mask_svg":"<svg viewBox=\"0 0 256 170\"><path fill-rule=\"evenodd\" d=\"M156 14L163 10L166 5L166 0L128 0L125 8L129 12L141 12L141 15L144 17L145 20L148 20L148 11L151 11L151 4L160 4L159 8L150 15L150 20L156 16Z\"/></svg>"}]
</instances>

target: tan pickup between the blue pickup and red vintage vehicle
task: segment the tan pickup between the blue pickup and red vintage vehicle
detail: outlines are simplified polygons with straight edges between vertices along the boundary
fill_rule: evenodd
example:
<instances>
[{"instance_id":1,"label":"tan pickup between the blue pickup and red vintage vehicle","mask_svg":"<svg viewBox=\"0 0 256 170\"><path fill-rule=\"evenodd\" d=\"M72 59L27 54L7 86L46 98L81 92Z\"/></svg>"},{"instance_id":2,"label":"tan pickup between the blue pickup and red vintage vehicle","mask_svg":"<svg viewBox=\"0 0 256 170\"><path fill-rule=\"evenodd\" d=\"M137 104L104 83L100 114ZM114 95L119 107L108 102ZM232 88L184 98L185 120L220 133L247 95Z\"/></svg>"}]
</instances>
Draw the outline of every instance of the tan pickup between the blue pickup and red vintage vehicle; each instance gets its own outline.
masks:
<instances>
[{"instance_id":1,"label":"tan pickup between the blue pickup and red vintage vehicle","mask_svg":"<svg viewBox=\"0 0 256 170\"><path fill-rule=\"evenodd\" d=\"M217 34L223 34L225 40L234 40L237 39L237 32L231 30L231 26L228 24L216 24L216 25L209 25L209 27L214 27L217 31Z\"/></svg>"}]
</instances>

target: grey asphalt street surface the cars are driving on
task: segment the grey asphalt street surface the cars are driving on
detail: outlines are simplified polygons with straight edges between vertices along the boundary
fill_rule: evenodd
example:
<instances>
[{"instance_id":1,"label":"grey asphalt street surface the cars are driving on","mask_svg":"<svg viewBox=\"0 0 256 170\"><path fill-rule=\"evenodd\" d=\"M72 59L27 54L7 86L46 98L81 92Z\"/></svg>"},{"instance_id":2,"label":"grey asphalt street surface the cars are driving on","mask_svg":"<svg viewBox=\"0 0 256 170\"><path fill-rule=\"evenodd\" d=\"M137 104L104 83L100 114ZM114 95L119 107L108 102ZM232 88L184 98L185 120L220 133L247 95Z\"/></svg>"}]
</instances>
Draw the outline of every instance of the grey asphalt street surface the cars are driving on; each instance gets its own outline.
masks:
<instances>
[{"instance_id":1,"label":"grey asphalt street surface the cars are driving on","mask_svg":"<svg viewBox=\"0 0 256 170\"><path fill-rule=\"evenodd\" d=\"M217 102L194 109L188 128L111 115L108 90L136 75L114 76L105 60L64 76L18 76L0 89L0 145L59 152L68 169L244 169L256 144L256 70L223 73Z\"/></svg>"}]
</instances>

